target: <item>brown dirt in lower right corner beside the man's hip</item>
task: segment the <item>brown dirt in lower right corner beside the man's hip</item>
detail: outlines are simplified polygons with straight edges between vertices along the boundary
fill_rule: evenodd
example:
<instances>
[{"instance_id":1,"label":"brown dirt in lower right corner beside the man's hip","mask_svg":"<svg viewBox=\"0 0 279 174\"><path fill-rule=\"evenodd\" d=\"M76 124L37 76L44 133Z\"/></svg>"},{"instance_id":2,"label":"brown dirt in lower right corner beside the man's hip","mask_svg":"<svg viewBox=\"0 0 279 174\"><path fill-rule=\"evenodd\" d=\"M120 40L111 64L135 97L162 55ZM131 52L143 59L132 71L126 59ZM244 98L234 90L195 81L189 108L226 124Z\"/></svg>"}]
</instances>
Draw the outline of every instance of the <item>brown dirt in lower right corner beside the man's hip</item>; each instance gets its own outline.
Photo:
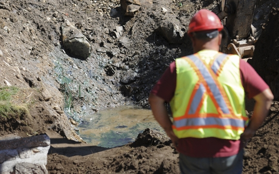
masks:
<instances>
[{"instance_id":1,"label":"brown dirt in lower right corner beside the man's hip","mask_svg":"<svg viewBox=\"0 0 279 174\"><path fill-rule=\"evenodd\" d=\"M279 102L273 102L269 116L245 148L244 174L279 174Z\"/></svg>"}]
</instances>

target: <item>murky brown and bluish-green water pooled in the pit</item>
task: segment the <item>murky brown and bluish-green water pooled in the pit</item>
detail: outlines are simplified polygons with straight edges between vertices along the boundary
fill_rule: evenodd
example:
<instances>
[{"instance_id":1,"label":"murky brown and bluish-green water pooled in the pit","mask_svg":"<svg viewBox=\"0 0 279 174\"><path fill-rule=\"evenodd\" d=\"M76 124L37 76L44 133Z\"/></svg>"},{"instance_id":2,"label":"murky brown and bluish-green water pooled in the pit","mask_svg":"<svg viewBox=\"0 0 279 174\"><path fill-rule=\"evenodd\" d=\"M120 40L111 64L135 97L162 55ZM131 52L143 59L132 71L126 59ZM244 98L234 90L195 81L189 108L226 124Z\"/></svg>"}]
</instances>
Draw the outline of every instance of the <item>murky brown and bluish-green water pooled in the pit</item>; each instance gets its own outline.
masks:
<instances>
[{"instance_id":1,"label":"murky brown and bluish-green water pooled in the pit","mask_svg":"<svg viewBox=\"0 0 279 174\"><path fill-rule=\"evenodd\" d=\"M89 145L116 147L134 142L146 128L163 132L151 110L120 106L85 116L80 137Z\"/></svg>"}]
</instances>

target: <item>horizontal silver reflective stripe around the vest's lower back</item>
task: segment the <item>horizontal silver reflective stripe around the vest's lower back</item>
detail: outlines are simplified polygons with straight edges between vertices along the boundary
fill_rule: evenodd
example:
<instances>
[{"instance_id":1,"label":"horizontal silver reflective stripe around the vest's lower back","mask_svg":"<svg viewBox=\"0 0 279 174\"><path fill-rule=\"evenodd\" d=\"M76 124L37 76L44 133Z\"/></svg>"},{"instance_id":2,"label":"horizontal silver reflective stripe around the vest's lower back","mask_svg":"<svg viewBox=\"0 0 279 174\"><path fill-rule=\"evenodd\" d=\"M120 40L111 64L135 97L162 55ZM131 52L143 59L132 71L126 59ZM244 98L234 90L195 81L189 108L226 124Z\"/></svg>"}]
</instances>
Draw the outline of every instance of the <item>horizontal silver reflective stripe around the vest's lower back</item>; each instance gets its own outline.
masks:
<instances>
[{"instance_id":1,"label":"horizontal silver reflective stripe around the vest's lower back","mask_svg":"<svg viewBox=\"0 0 279 174\"><path fill-rule=\"evenodd\" d=\"M207 117L207 118L185 118L177 120L174 122L176 128L184 126L209 126L209 125L218 125L218 126L228 126L241 127L245 125L244 120L233 119L233 118L216 118L216 117Z\"/></svg>"}]
</instances>

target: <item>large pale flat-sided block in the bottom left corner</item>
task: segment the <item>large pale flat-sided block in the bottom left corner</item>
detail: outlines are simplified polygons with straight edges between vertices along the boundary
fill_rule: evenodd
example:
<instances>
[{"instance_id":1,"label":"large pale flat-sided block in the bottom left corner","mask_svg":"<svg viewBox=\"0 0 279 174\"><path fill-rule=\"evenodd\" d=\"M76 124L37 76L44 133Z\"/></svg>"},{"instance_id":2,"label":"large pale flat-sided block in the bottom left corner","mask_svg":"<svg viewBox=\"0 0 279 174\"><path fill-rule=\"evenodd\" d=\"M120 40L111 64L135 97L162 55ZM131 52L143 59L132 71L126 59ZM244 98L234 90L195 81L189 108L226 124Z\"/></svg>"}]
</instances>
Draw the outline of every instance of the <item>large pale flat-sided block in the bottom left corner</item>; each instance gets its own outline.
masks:
<instances>
[{"instance_id":1,"label":"large pale flat-sided block in the bottom left corner","mask_svg":"<svg viewBox=\"0 0 279 174\"><path fill-rule=\"evenodd\" d=\"M46 134L0 141L0 174L47 174L49 147Z\"/></svg>"}]
</instances>

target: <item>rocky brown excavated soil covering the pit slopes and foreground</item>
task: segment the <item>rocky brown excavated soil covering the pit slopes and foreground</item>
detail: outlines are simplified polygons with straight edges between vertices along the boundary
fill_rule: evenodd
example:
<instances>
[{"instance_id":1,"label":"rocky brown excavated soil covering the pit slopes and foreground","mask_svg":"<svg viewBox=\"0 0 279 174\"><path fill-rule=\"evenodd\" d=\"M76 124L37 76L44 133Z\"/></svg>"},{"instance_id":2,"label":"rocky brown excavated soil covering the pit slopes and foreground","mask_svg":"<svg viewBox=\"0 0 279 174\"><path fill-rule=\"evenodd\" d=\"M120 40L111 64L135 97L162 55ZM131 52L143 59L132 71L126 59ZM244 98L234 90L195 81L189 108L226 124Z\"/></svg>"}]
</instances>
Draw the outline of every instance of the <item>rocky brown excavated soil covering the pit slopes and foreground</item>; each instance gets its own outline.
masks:
<instances>
[{"instance_id":1,"label":"rocky brown excavated soil covering the pit slopes and foreground","mask_svg":"<svg viewBox=\"0 0 279 174\"><path fill-rule=\"evenodd\" d=\"M0 86L20 87L21 100L14 102L30 107L30 116L0 117L0 135L47 133L52 146L50 174L178 173L177 152L157 132L147 130L134 144L107 149L79 143L76 126L82 116L106 107L149 108L148 93L169 63L192 54L185 34L191 16L202 8L217 12L218 3L154 0L151 8L142 6L134 16L124 16L118 0L0 0ZM250 63L276 93L279 2L258 0L256 7L253 25L258 42ZM65 19L88 38L91 57L74 58L65 51L61 40ZM170 21L177 24L181 37L161 35L158 28ZM278 111L274 102L266 122L248 143L245 174L279 173Z\"/></svg>"}]
</instances>

